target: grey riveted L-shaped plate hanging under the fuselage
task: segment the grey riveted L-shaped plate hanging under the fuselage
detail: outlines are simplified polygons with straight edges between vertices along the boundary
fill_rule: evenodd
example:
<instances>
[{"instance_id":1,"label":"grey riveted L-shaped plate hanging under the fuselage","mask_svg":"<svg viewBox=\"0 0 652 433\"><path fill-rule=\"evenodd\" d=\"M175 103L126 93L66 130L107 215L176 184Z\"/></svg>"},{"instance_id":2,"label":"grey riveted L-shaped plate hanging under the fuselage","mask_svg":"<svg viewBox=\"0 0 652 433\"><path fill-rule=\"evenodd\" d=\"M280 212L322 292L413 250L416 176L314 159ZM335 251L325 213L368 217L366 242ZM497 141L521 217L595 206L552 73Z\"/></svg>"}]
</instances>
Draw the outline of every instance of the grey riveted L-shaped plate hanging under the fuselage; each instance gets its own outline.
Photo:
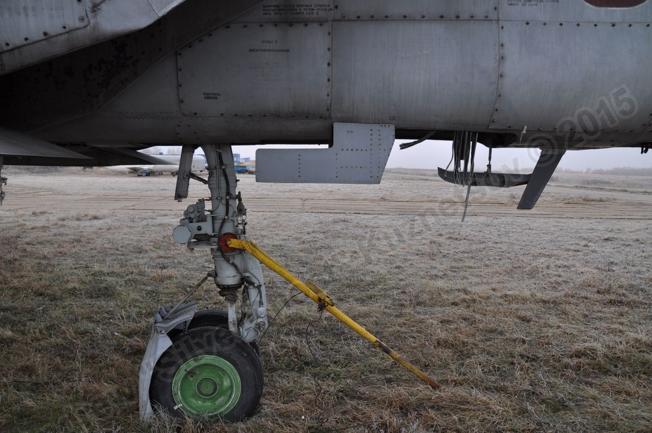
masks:
<instances>
[{"instance_id":1,"label":"grey riveted L-shaped plate hanging under the fuselage","mask_svg":"<svg viewBox=\"0 0 652 433\"><path fill-rule=\"evenodd\" d=\"M380 183L394 125L334 123L329 149L258 149L256 181Z\"/></svg>"}]
</instances>

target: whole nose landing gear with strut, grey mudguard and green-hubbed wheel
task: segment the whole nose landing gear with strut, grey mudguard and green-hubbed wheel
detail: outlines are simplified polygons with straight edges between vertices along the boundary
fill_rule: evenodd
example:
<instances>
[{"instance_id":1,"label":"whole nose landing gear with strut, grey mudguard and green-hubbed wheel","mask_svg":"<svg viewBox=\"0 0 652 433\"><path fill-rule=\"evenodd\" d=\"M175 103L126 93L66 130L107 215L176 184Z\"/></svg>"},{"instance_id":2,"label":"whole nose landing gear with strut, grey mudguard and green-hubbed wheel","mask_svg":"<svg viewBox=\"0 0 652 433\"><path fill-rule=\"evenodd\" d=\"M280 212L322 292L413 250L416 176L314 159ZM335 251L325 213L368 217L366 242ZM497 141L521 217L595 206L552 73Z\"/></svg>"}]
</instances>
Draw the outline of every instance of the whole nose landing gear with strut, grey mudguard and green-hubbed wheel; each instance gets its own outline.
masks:
<instances>
[{"instance_id":1,"label":"whole nose landing gear with strut, grey mudguard and green-hubbed wheel","mask_svg":"<svg viewBox=\"0 0 652 433\"><path fill-rule=\"evenodd\" d=\"M204 145L211 196L189 205L173 231L177 243L211 252L213 279L226 312L196 312L197 303L159 308L140 371L140 413L158 404L172 415L238 421L252 415L263 389L258 340L267 329L267 297L258 260L228 246L246 239L246 209L235 194L230 145ZM175 198L187 197L194 147L184 147ZM209 209L207 209L209 207ZM203 283L207 278L204 278ZM237 303L241 299L240 316Z\"/></svg>"}]
</instances>

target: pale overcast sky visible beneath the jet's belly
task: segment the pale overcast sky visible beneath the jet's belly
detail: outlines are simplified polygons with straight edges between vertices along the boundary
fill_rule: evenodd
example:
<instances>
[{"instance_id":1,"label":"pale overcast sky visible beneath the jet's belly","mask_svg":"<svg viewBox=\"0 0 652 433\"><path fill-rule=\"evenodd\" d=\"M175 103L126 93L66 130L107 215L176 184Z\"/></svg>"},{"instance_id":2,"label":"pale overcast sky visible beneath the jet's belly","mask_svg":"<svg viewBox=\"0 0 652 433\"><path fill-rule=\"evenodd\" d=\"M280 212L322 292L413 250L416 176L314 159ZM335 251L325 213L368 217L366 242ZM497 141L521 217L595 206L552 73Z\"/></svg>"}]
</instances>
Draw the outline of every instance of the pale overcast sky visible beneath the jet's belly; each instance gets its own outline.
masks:
<instances>
[{"instance_id":1,"label":"pale overcast sky visible beneath the jet's belly","mask_svg":"<svg viewBox=\"0 0 652 433\"><path fill-rule=\"evenodd\" d=\"M404 168L437 168L446 167L451 159L451 142L427 140L421 144L400 150L399 143L409 140L396 140L389 155L387 167ZM274 146L234 146L233 153L239 153L241 157L256 157L256 149L265 147L282 148L293 147L292 145ZM306 147L306 146L299 146ZM314 147L314 146L313 146ZM325 146L320 146L325 148ZM476 171L483 171L486 166L488 149L478 145L475 157ZM507 166L512 170L517 168L531 168L537 163L539 151L537 149L494 149L492 156L492 169L499 171L501 167ZM560 167L571 168L572 170L585 170L586 168L614 168L614 167L652 167L652 152L641 155L640 149L596 149L587 151L568 151L561 159Z\"/></svg>"}]
</instances>

